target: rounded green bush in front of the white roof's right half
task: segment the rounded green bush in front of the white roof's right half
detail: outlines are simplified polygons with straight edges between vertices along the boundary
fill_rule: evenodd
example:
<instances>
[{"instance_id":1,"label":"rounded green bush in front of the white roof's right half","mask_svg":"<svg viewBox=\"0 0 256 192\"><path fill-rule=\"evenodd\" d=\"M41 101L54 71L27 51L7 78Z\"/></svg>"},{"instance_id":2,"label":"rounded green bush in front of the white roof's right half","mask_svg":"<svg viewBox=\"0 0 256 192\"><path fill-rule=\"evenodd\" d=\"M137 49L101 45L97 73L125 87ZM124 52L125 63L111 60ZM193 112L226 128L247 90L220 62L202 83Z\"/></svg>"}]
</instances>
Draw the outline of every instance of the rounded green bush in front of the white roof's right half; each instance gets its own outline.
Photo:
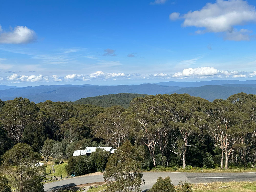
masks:
<instances>
[{"instance_id":1,"label":"rounded green bush in front of the white roof's right half","mask_svg":"<svg viewBox=\"0 0 256 192\"><path fill-rule=\"evenodd\" d=\"M96 170L103 169L106 166L109 155L109 152L101 148L96 148L96 150L91 153L90 158L93 162L93 165L96 167Z\"/></svg>"}]
</instances>

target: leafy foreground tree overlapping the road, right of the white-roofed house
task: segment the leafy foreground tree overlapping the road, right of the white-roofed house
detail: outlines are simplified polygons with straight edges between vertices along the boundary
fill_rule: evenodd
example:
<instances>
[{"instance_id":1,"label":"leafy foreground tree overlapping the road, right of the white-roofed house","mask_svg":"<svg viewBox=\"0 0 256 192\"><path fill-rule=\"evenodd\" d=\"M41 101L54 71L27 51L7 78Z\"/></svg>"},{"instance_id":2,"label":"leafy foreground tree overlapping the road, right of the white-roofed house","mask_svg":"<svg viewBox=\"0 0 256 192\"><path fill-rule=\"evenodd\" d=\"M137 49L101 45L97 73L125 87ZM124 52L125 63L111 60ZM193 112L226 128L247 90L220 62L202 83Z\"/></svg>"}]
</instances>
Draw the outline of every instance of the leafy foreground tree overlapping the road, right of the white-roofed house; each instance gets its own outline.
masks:
<instances>
[{"instance_id":1,"label":"leafy foreground tree overlapping the road, right of the white-roofed house","mask_svg":"<svg viewBox=\"0 0 256 192\"><path fill-rule=\"evenodd\" d=\"M104 180L109 184L108 191L140 192L143 176L140 167L141 160L136 148L129 141L123 143L110 156L103 174Z\"/></svg>"}]
</instances>

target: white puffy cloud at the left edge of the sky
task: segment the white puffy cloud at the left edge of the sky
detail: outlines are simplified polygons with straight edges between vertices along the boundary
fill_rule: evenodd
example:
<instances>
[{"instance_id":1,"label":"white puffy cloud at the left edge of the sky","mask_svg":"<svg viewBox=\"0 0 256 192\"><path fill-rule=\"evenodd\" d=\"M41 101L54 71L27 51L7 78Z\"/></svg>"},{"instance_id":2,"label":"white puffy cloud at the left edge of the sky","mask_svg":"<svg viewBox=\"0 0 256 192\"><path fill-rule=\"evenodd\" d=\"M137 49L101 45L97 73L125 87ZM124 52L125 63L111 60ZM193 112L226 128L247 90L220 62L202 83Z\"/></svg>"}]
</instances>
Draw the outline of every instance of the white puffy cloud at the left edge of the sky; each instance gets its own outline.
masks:
<instances>
[{"instance_id":1,"label":"white puffy cloud at the left edge of the sky","mask_svg":"<svg viewBox=\"0 0 256 192\"><path fill-rule=\"evenodd\" d=\"M0 25L0 43L2 44L26 44L35 40L35 31L26 26L16 26L14 30L4 32Z\"/></svg>"}]
</instances>

